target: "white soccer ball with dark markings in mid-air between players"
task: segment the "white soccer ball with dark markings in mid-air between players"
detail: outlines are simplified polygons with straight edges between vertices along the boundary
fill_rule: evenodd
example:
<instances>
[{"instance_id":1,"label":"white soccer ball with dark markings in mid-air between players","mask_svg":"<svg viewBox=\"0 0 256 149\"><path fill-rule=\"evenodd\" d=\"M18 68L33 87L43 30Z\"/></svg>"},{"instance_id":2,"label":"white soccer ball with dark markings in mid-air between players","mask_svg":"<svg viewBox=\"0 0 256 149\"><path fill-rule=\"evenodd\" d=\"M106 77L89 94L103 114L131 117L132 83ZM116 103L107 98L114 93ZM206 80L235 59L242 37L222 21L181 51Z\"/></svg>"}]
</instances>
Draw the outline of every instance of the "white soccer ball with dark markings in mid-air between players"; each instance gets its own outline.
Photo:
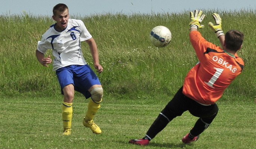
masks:
<instances>
[{"instance_id":1,"label":"white soccer ball with dark markings in mid-air between players","mask_svg":"<svg viewBox=\"0 0 256 149\"><path fill-rule=\"evenodd\" d=\"M165 47L170 43L172 39L172 33L165 26L156 26L151 30L149 39L152 44L155 45L155 47Z\"/></svg>"}]
</instances>

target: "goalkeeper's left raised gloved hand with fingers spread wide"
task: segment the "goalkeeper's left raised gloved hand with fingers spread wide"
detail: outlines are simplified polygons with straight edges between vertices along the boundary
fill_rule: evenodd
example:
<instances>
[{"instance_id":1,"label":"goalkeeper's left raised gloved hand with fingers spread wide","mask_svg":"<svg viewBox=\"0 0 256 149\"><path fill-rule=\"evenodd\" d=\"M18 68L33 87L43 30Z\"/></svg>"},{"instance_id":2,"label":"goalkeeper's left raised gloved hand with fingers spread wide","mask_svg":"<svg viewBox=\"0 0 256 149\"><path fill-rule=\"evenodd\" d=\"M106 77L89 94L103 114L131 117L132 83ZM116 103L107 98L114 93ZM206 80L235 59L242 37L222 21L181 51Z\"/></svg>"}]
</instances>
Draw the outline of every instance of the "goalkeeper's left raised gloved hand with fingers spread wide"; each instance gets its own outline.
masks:
<instances>
[{"instance_id":1,"label":"goalkeeper's left raised gloved hand with fingers spread wide","mask_svg":"<svg viewBox=\"0 0 256 149\"><path fill-rule=\"evenodd\" d=\"M200 29L204 27L204 25L200 24L205 17L205 15L204 14L202 15L202 13L203 13L202 10L200 10L199 13L198 13L198 10L195 10L195 15L193 14L193 12L190 12L190 22L189 22L190 28L194 27L194 28Z\"/></svg>"}]
</instances>

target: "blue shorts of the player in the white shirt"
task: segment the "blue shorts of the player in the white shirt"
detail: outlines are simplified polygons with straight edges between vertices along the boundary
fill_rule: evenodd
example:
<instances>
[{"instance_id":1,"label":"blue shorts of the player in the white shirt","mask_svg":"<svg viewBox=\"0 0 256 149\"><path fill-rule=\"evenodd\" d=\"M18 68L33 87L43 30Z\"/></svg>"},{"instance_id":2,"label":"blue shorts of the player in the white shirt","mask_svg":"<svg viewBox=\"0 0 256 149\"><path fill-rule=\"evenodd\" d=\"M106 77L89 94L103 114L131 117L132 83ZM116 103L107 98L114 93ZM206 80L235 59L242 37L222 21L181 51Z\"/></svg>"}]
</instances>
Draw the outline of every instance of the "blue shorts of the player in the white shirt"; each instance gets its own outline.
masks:
<instances>
[{"instance_id":1,"label":"blue shorts of the player in the white shirt","mask_svg":"<svg viewBox=\"0 0 256 149\"><path fill-rule=\"evenodd\" d=\"M88 91L93 85L101 85L98 77L90 68L89 65L70 65L66 67L59 68L56 70L56 75L59 80L59 85L62 89L73 84L75 91L82 93L85 98L90 98L91 94Z\"/></svg>"}]
</instances>

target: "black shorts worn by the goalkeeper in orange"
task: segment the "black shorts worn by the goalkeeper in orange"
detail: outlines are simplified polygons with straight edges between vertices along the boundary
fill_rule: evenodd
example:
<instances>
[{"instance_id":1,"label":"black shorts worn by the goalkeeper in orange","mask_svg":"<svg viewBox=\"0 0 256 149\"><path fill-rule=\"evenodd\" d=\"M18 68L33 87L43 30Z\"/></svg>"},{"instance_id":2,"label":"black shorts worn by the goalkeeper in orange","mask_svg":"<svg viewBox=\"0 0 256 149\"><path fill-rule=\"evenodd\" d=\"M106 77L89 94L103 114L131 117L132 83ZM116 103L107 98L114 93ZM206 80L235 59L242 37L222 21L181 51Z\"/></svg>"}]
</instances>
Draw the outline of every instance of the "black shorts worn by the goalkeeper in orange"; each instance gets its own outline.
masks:
<instances>
[{"instance_id":1,"label":"black shorts worn by the goalkeeper in orange","mask_svg":"<svg viewBox=\"0 0 256 149\"><path fill-rule=\"evenodd\" d=\"M183 86L175 94L173 99L161 111L162 114L172 119L181 116L183 112L189 111L195 117L206 118L215 115L218 112L217 104L201 105L182 93Z\"/></svg>"}]
</instances>

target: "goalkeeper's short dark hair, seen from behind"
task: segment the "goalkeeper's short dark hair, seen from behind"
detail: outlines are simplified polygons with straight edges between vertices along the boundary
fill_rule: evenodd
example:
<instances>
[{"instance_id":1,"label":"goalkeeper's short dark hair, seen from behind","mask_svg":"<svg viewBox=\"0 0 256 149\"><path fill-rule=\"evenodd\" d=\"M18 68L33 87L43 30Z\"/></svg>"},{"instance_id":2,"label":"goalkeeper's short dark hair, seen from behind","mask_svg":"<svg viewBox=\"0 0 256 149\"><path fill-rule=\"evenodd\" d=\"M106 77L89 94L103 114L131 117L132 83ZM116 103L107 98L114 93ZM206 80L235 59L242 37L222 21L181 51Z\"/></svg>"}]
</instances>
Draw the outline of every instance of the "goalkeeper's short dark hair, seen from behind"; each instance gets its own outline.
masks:
<instances>
[{"instance_id":1,"label":"goalkeeper's short dark hair, seen from behind","mask_svg":"<svg viewBox=\"0 0 256 149\"><path fill-rule=\"evenodd\" d=\"M230 30L225 34L226 48L237 51L241 48L244 41L244 34L237 30Z\"/></svg>"}]
</instances>

